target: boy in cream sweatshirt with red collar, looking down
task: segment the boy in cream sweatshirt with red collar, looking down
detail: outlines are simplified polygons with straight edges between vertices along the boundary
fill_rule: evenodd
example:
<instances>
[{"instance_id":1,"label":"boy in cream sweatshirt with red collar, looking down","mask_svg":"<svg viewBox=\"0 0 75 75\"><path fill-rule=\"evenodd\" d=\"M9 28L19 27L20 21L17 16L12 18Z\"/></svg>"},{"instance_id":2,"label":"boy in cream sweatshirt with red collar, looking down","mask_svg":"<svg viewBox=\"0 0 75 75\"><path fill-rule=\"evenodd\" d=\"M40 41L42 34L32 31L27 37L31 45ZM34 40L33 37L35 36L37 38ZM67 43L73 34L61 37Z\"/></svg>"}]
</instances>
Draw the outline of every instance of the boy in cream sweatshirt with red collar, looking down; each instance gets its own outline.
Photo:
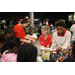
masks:
<instances>
[{"instance_id":1,"label":"boy in cream sweatshirt with red collar, looking down","mask_svg":"<svg viewBox=\"0 0 75 75\"><path fill-rule=\"evenodd\" d=\"M59 20L55 23L57 31L53 34L52 49L56 49L56 52L63 52L70 46L71 33L65 30L66 23L63 20Z\"/></svg>"}]
</instances>

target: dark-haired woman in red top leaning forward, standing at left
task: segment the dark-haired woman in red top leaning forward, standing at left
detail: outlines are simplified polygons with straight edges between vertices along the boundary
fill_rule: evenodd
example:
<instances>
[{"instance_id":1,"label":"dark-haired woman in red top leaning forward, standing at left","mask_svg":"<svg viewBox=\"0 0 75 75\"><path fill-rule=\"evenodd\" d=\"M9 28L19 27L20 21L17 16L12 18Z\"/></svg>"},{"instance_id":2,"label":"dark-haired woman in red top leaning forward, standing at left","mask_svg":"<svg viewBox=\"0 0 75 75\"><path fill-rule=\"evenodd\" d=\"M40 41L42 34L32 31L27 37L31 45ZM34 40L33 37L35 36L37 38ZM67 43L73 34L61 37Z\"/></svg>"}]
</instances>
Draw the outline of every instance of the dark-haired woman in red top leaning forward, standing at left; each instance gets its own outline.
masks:
<instances>
[{"instance_id":1,"label":"dark-haired woman in red top leaning forward, standing at left","mask_svg":"<svg viewBox=\"0 0 75 75\"><path fill-rule=\"evenodd\" d=\"M13 30L15 32L15 37L20 37L20 41L24 43L31 43L31 40L25 40L25 28L29 25L29 20L27 18L24 18L19 24L17 24Z\"/></svg>"}]
</instances>

